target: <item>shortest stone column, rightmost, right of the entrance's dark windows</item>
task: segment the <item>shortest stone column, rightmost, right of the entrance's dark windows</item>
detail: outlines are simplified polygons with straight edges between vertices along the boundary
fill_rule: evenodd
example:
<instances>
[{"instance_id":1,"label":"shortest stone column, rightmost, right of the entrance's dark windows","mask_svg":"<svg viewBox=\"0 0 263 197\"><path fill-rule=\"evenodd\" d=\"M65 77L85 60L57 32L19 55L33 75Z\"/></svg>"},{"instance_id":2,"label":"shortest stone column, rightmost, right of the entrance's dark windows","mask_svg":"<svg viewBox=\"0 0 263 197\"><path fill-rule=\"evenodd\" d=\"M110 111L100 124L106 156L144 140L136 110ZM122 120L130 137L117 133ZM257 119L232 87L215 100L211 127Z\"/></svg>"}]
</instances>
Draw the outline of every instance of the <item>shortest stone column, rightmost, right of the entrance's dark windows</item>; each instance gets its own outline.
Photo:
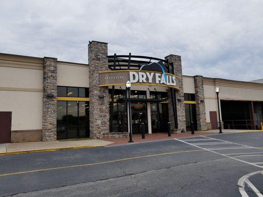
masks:
<instances>
[{"instance_id":1,"label":"shortest stone column, rightmost, right of the entrance's dark windows","mask_svg":"<svg viewBox=\"0 0 263 197\"><path fill-rule=\"evenodd\" d=\"M196 75L194 78L195 90L195 106L196 106L196 120L197 130L206 131L206 114L205 114L205 97L204 97L204 84L203 76Z\"/></svg>"}]
</instances>

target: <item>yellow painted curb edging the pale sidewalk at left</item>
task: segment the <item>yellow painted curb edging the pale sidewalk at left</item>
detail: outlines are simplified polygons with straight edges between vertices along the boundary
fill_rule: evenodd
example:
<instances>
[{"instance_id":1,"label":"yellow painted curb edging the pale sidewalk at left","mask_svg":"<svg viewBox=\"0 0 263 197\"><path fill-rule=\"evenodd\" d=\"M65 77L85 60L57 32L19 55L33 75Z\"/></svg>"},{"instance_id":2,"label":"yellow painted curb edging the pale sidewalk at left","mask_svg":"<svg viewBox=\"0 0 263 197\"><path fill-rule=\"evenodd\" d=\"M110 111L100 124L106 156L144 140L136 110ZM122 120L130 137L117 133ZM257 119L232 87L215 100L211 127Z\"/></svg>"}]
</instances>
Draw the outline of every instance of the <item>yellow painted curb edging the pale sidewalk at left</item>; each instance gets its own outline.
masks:
<instances>
[{"instance_id":1,"label":"yellow painted curb edging the pale sidewalk at left","mask_svg":"<svg viewBox=\"0 0 263 197\"><path fill-rule=\"evenodd\" d=\"M25 153L52 152L52 151L60 151L67 149L92 148L98 146L103 146L103 145L72 146L72 147L63 147L63 148L38 149L38 150L30 150L30 151L14 151L14 152L0 153L0 156L17 155L17 154L25 154Z\"/></svg>"}]
</instances>

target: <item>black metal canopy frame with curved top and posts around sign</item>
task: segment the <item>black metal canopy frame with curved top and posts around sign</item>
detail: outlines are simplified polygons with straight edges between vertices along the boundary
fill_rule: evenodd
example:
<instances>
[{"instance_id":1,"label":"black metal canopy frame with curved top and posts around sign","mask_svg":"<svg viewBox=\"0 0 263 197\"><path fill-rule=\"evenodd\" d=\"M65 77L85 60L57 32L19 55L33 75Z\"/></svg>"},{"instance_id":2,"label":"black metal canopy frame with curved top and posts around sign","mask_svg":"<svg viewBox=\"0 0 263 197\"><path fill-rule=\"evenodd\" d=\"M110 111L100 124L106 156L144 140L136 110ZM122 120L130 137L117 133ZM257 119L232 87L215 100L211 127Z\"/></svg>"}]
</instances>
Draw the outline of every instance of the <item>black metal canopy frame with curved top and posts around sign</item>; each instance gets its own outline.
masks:
<instances>
[{"instance_id":1,"label":"black metal canopy frame with curved top and posts around sign","mask_svg":"<svg viewBox=\"0 0 263 197\"><path fill-rule=\"evenodd\" d=\"M168 73L174 74L174 65L173 63L169 63L169 60L163 60L159 58L153 58L148 56L137 56L137 55L112 55L108 57L108 67L110 70L126 70L126 69L140 69L144 65L148 65L155 61L161 61L163 65L167 68ZM172 68L172 69L171 69ZM112 86L112 94L111 94L111 116L110 116L110 132L113 132L113 103L114 103L114 89L115 86ZM177 111L176 111L176 90L170 88L171 97L172 97L172 106L173 106L173 115L175 128L178 129L178 119L177 119ZM127 91L125 91L125 99L124 99L124 115L127 118L126 106L127 106ZM122 132L124 132L124 120L122 121Z\"/></svg>"}]
</instances>

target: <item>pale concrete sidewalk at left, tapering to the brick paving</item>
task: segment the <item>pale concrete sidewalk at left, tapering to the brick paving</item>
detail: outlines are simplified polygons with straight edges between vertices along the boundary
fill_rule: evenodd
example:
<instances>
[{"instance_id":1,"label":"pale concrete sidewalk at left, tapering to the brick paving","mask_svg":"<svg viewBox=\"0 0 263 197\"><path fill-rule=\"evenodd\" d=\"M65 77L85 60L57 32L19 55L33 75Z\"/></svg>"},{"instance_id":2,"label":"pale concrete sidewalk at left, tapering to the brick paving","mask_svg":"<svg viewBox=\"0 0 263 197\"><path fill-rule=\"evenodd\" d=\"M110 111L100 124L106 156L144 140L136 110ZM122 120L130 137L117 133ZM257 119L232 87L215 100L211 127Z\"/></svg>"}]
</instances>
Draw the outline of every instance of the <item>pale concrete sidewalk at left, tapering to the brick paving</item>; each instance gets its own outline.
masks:
<instances>
[{"instance_id":1,"label":"pale concrete sidewalk at left, tapering to the brick paving","mask_svg":"<svg viewBox=\"0 0 263 197\"><path fill-rule=\"evenodd\" d=\"M99 140L99 139L7 143L7 144L0 144L0 155L13 155L20 153L32 153L32 152L42 152L42 151L56 151L56 150L74 149L74 148L89 148L96 146L106 146L112 143L113 142Z\"/></svg>"}]
</instances>

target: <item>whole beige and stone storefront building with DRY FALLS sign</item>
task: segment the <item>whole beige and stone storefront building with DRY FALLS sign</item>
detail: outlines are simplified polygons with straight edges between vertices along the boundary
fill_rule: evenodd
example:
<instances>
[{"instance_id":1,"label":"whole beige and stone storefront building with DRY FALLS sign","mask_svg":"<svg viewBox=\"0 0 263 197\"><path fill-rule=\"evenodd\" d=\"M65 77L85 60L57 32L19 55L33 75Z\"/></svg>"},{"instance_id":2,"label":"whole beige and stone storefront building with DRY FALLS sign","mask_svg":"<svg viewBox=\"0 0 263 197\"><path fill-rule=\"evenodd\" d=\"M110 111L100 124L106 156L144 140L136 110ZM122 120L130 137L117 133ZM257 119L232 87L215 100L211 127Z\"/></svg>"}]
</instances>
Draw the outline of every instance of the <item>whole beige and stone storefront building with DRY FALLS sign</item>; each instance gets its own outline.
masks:
<instances>
[{"instance_id":1,"label":"whole beige and stone storefront building with DRY FALLS sign","mask_svg":"<svg viewBox=\"0 0 263 197\"><path fill-rule=\"evenodd\" d=\"M181 57L108 55L88 44L89 64L0 54L0 143L128 137L125 83L132 82L132 131L261 129L263 83L182 75ZM260 78L261 76L259 76Z\"/></svg>"}]
</instances>

